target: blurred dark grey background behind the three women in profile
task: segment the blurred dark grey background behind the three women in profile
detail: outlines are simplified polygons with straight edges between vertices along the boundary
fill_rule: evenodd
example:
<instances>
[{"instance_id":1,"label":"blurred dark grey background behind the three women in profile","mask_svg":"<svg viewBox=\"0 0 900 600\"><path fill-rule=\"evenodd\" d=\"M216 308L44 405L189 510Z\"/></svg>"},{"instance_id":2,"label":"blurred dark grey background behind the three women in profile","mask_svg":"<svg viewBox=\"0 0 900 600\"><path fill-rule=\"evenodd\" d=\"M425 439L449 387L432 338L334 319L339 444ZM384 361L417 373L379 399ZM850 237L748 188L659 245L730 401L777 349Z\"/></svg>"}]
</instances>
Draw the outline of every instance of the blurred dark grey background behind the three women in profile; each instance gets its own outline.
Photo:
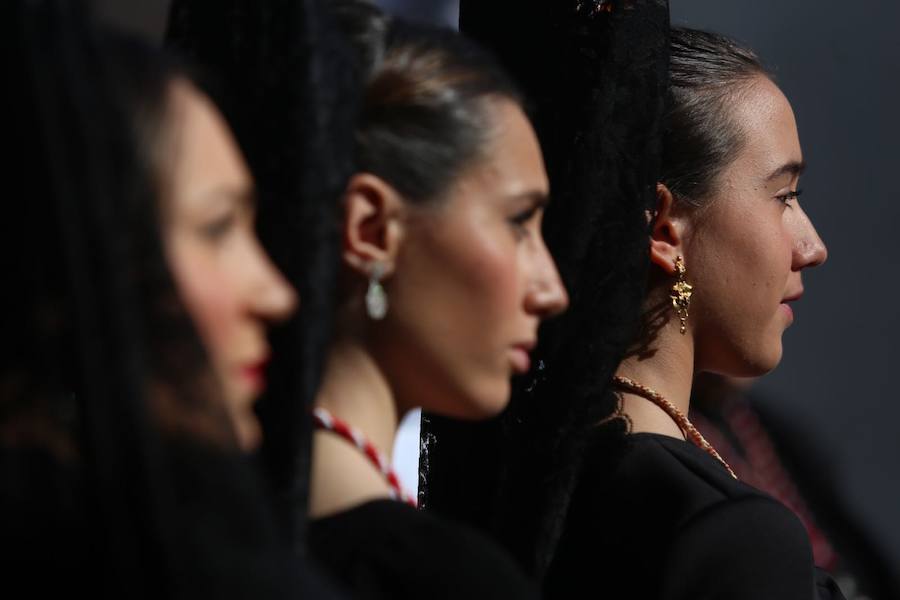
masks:
<instances>
[{"instance_id":1,"label":"blurred dark grey background behind the three women in profile","mask_svg":"<svg viewBox=\"0 0 900 600\"><path fill-rule=\"evenodd\" d=\"M457 21L454 1L380 3L418 20ZM98 2L111 21L155 39L167 4ZM829 510L900 573L900 2L671 5L673 23L754 48L794 106L809 163L802 202L829 260L806 277L785 358L756 383L754 397L788 432L802 482L825 490ZM411 488L417 421L407 419L397 452Z\"/></svg>"}]
</instances>

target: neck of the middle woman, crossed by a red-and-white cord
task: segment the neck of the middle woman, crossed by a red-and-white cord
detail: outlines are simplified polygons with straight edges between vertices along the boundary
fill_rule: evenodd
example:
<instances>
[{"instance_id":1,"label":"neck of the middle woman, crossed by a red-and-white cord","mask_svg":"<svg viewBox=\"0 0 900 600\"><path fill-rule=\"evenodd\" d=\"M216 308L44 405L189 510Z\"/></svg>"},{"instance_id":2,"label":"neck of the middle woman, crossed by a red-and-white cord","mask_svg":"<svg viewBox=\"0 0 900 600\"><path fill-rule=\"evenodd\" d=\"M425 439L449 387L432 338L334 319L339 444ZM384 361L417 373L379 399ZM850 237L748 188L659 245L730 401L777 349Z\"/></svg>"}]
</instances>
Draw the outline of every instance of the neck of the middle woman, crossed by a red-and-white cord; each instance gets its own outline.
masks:
<instances>
[{"instance_id":1,"label":"neck of the middle woman, crossed by a red-and-white cord","mask_svg":"<svg viewBox=\"0 0 900 600\"><path fill-rule=\"evenodd\" d=\"M361 342L350 338L335 341L315 404L358 429L391 459L400 415L387 379ZM311 517L390 495L384 476L359 449L328 431L313 434Z\"/></svg>"}]
</instances>

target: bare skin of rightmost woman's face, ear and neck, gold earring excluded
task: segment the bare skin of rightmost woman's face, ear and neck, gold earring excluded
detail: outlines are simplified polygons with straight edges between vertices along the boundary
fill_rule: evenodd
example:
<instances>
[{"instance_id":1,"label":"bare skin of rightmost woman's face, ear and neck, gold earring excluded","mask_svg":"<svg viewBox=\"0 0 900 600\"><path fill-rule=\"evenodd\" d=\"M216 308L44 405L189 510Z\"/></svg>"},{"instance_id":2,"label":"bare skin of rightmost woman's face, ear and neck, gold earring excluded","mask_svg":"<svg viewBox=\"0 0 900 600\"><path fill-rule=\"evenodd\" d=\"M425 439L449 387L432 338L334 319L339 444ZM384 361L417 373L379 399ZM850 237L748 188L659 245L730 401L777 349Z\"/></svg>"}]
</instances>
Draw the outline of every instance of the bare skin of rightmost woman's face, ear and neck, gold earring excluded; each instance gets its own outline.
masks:
<instances>
[{"instance_id":1,"label":"bare skin of rightmost woman's face, ear and neck, gold earring excluded","mask_svg":"<svg viewBox=\"0 0 900 600\"><path fill-rule=\"evenodd\" d=\"M695 373L753 377L778 365L782 335L794 318L789 303L803 293L802 271L827 258L825 244L793 197L803 155L787 98L759 76L736 97L733 118L745 144L704 208L679 207L659 187L650 256L664 276L647 308L668 302L675 258L683 256L694 286L687 334L680 334L669 309L654 352L629 357L619 369L685 413ZM646 400L626 394L624 409L636 431L682 437Z\"/></svg>"}]
</instances>

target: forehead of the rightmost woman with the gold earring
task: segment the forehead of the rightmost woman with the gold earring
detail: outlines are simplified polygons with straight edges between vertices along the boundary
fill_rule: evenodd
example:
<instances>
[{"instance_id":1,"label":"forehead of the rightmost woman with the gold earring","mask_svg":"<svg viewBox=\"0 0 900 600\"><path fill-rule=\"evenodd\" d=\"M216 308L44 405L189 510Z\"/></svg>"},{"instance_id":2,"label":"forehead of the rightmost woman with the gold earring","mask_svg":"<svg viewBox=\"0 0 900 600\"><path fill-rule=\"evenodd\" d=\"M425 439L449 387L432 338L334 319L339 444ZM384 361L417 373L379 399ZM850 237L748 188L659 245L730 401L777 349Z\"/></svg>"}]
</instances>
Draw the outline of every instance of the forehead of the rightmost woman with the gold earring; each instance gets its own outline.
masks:
<instances>
[{"instance_id":1,"label":"forehead of the rightmost woman with the gold earring","mask_svg":"<svg viewBox=\"0 0 900 600\"><path fill-rule=\"evenodd\" d=\"M758 77L734 102L735 125L744 133L734 167L765 176L784 164L802 162L794 111L778 86Z\"/></svg>"}]
</instances>

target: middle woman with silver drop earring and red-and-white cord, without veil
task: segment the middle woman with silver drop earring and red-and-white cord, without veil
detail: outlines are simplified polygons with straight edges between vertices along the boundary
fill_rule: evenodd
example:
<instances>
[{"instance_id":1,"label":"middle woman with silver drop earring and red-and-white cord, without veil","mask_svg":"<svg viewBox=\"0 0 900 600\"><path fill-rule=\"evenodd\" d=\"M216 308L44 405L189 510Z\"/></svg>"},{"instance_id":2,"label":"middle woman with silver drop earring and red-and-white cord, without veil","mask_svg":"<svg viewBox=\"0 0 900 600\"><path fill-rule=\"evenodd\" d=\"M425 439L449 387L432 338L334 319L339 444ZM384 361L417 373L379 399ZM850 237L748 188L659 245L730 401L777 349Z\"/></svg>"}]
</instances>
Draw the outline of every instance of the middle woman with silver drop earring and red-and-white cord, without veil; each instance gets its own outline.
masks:
<instances>
[{"instance_id":1,"label":"middle woman with silver drop earring and red-and-white cord, without veil","mask_svg":"<svg viewBox=\"0 0 900 600\"><path fill-rule=\"evenodd\" d=\"M367 82L316 400L311 552L365 598L532 597L487 540L409 505L389 452L413 408L502 411L539 323L567 304L541 237L540 148L514 86L470 42L363 3L341 12Z\"/></svg>"}]
</instances>

